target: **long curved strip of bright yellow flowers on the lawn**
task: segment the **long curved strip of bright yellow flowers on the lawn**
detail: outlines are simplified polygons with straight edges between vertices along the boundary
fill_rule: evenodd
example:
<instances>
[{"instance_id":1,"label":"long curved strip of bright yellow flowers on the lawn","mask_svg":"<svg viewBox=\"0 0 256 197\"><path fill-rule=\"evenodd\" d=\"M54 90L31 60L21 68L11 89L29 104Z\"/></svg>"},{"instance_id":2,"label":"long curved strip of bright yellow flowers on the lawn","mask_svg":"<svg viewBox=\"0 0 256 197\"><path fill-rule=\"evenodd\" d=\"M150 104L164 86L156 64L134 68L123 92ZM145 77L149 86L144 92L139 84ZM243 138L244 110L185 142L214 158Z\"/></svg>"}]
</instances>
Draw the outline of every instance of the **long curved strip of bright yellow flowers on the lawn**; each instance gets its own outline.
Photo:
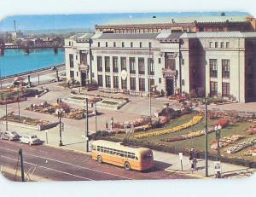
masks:
<instances>
[{"instance_id":1,"label":"long curved strip of bright yellow flowers on the lawn","mask_svg":"<svg viewBox=\"0 0 256 197\"><path fill-rule=\"evenodd\" d=\"M169 129L155 130L155 131L151 131L151 132L144 132L144 133L137 134L133 137L138 139L138 138L143 138L143 137L160 136L160 135L164 135L164 134L174 133L174 132L177 132L177 131L180 131L180 130L187 129L190 126L197 125L201 121L202 118L203 118L202 116L194 116L193 119L191 119L187 123L184 123L183 125L178 125L176 127L169 128Z\"/></svg>"}]
</instances>

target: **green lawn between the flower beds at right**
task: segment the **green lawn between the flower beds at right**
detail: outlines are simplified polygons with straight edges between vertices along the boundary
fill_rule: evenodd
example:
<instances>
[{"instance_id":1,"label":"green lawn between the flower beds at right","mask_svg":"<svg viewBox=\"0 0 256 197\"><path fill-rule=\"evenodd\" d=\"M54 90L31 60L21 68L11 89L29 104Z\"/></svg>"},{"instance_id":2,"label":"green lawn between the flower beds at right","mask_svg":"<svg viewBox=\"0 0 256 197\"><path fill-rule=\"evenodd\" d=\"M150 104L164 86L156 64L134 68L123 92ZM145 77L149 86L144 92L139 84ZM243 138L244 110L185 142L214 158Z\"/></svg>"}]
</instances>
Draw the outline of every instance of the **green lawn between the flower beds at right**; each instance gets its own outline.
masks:
<instances>
[{"instance_id":1,"label":"green lawn between the flower beds at right","mask_svg":"<svg viewBox=\"0 0 256 197\"><path fill-rule=\"evenodd\" d=\"M182 117L178 118L178 119L174 119L172 120L169 124L166 124L164 128L172 128L175 127L177 125L182 125L183 123L188 122L190 119L192 119L195 116L195 114L188 114L188 115L183 115ZM208 126L212 126L215 125L218 122L217 119L208 119ZM221 130L221 138L224 136L233 136L236 134L239 134L241 136L246 136L245 139L241 139L238 142L242 142L247 140L247 138L253 137L253 135L247 135L246 134L246 130L247 127L249 127L250 125L253 125L253 123L248 123L248 122L241 122L238 123L236 125L229 125L226 128ZM202 119L201 122L198 125L189 127L188 129L185 130L181 130L181 131L177 131L175 133L171 133L171 134L166 134L166 135L160 135L160 136L151 136L151 137L143 137L140 139L136 139L137 142L153 142L153 143L160 143L160 144L165 144L167 146L170 147L175 147L175 148L192 148L195 147L195 149L197 150L205 150L205 136L198 136L198 137L194 137L192 139L187 139L187 140L183 140L183 141L177 141L177 142L163 142L161 141L161 139L164 139L166 137L173 137L173 136L181 136L183 134L188 134L190 131L195 131L195 130L204 130L205 128L205 119ZM159 129L154 129L154 130L159 130ZM148 131L152 131L152 130L148 130ZM126 135L125 134L116 134L115 136L113 136L114 138L119 138L120 140L123 140L124 137ZM256 135L254 135L256 137ZM212 132L210 134L208 134L208 150L210 153L212 154L217 154L217 151L212 150L211 149L211 144L212 141L215 140L215 132ZM237 142L236 142L237 143ZM247 159L250 161L256 161L256 157L253 156L243 156L243 154L245 152L247 152L247 150L249 150L249 148L246 148L236 154L226 154L226 148L231 147L232 145L222 148L221 150L221 154L225 157L235 157L235 158L243 158L243 159Z\"/></svg>"}]
</instances>

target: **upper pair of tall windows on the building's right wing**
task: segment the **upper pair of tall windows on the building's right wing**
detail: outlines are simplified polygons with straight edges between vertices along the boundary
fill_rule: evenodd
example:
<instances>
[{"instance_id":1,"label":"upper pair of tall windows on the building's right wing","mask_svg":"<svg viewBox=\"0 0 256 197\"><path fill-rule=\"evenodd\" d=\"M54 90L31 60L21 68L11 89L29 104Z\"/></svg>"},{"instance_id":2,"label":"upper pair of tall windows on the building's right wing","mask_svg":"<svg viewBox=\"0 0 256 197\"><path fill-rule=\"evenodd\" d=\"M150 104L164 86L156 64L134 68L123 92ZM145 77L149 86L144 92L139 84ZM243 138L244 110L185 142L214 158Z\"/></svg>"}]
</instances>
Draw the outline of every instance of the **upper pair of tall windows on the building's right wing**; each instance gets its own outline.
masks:
<instances>
[{"instance_id":1,"label":"upper pair of tall windows on the building's right wing","mask_svg":"<svg viewBox=\"0 0 256 197\"><path fill-rule=\"evenodd\" d=\"M218 78L218 61L210 59L210 77ZM230 78L230 60L222 60L222 78Z\"/></svg>"}]
</instances>

